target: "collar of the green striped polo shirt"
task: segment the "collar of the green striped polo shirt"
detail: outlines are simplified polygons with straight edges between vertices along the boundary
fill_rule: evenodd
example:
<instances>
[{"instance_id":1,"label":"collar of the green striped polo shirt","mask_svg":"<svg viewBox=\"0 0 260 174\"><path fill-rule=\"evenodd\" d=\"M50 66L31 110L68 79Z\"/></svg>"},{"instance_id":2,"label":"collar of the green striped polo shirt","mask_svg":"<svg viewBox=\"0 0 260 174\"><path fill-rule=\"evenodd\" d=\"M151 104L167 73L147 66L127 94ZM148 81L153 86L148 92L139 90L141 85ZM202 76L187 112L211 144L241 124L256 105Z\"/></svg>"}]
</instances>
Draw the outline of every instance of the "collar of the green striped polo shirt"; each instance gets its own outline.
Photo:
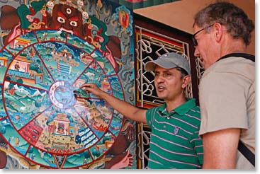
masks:
<instances>
[{"instance_id":1,"label":"collar of the green striped polo shirt","mask_svg":"<svg viewBox=\"0 0 260 174\"><path fill-rule=\"evenodd\" d=\"M179 107L175 108L174 110L170 111L170 115L174 115L176 112L178 115L185 115L189 110L196 106L196 99L195 98L186 98L186 103L183 103ZM162 113L162 115L169 115L166 110L166 103L164 103L158 110Z\"/></svg>"}]
</instances>

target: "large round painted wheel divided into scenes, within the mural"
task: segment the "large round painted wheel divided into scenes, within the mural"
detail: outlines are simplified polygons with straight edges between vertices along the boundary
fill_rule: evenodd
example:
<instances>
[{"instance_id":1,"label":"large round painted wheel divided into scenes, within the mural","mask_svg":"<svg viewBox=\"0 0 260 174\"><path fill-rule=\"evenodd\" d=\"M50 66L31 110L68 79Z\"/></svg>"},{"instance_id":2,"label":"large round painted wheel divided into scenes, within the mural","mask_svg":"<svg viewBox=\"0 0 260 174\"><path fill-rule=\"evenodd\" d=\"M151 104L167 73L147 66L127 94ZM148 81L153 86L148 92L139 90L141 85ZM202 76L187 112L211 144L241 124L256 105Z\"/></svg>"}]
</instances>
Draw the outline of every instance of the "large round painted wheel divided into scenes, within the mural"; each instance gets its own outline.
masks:
<instances>
[{"instance_id":1,"label":"large round painted wheel divided into scenes, within the mural","mask_svg":"<svg viewBox=\"0 0 260 174\"><path fill-rule=\"evenodd\" d=\"M94 163L113 146L123 115L79 88L96 83L124 100L118 75L95 45L60 30L33 30L0 56L1 133L17 153L47 168L74 168Z\"/></svg>"}]
</instances>

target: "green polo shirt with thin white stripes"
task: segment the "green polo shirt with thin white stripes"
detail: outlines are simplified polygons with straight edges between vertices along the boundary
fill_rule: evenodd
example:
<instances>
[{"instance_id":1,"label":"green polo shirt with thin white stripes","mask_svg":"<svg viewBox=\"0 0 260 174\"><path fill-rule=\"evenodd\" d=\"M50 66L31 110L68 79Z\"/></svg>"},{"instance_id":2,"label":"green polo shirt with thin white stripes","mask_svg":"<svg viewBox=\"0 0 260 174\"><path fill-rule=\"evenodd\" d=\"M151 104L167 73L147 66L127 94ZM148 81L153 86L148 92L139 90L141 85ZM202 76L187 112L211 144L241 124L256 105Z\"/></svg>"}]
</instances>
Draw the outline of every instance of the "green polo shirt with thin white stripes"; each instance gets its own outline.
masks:
<instances>
[{"instance_id":1,"label":"green polo shirt with thin white stripes","mask_svg":"<svg viewBox=\"0 0 260 174\"><path fill-rule=\"evenodd\" d=\"M195 99L187 98L186 103L170 113L166 111L166 103L151 108L146 119L152 129L148 168L201 168L200 108Z\"/></svg>"}]
</instances>

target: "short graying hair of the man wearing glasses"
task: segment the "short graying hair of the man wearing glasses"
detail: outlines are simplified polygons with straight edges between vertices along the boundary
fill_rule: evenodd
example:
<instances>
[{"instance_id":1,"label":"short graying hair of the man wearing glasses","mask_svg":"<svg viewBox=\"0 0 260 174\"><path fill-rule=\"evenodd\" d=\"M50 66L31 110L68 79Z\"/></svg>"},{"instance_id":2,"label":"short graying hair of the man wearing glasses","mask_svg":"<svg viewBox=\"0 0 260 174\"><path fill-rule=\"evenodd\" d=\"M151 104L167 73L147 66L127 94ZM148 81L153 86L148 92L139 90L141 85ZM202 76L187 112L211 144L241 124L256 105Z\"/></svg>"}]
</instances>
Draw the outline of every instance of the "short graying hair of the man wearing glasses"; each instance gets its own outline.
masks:
<instances>
[{"instance_id":1,"label":"short graying hair of the man wearing glasses","mask_svg":"<svg viewBox=\"0 0 260 174\"><path fill-rule=\"evenodd\" d=\"M229 2L219 1L210 4L196 13L193 27L198 25L200 28L205 28L214 23L225 25L227 33L234 39L242 39L245 45L250 44L254 23L241 8Z\"/></svg>"}]
</instances>

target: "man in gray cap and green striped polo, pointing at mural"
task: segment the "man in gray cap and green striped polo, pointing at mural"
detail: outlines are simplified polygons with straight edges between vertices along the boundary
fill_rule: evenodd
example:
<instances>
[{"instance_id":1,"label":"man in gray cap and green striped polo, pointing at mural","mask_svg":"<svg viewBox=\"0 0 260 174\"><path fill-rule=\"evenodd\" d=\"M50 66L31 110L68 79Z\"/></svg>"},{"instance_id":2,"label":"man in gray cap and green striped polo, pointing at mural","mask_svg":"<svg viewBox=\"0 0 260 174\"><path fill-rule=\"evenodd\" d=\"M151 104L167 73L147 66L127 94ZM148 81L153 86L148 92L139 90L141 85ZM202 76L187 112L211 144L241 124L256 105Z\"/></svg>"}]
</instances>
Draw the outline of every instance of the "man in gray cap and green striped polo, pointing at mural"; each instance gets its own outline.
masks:
<instances>
[{"instance_id":1,"label":"man in gray cap and green striped polo, pointing at mural","mask_svg":"<svg viewBox=\"0 0 260 174\"><path fill-rule=\"evenodd\" d=\"M162 106L144 110L109 95L94 83L81 88L106 100L125 117L148 124L152 130L148 168L201 168L203 144L198 137L200 109L195 99L186 98L184 89L191 81L191 70L183 55L166 53L145 64L154 71L154 85Z\"/></svg>"}]
</instances>

